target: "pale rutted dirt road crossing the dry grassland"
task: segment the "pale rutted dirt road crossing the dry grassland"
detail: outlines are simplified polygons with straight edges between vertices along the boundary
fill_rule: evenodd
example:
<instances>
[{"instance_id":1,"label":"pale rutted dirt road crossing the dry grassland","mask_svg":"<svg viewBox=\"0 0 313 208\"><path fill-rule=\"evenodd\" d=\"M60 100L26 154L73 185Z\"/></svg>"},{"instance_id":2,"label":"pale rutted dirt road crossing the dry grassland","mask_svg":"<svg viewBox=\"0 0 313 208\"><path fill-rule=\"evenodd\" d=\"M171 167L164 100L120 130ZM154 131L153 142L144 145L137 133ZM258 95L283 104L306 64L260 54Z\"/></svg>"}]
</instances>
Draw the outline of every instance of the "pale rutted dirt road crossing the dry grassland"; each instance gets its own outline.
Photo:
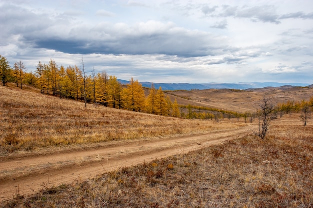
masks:
<instances>
[{"instance_id":1,"label":"pale rutted dirt road crossing the dry grassland","mask_svg":"<svg viewBox=\"0 0 313 208\"><path fill-rule=\"evenodd\" d=\"M149 162L251 133L253 126L209 134L124 142L120 146L51 153L0 161L0 201L28 195L46 187L84 180L119 167Z\"/></svg>"}]
</instances>

